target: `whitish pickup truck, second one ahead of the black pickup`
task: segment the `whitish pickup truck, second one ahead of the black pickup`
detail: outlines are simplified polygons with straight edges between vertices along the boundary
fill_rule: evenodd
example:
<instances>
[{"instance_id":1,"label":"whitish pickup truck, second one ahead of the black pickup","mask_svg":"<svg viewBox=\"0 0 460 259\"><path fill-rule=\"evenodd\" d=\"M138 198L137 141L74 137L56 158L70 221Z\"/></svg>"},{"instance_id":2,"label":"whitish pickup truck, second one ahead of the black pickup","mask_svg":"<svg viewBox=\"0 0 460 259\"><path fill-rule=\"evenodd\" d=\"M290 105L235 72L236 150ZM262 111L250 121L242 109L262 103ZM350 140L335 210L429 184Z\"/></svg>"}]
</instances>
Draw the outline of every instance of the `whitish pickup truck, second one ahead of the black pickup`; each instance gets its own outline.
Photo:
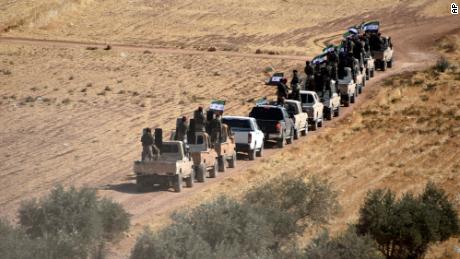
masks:
<instances>
[{"instance_id":1,"label":"whitish pickup truck, second one ahead of the black pickup","mask_svg":"<svg viewBox=\"0 0 460 259\"><path fill-rule=\"evenodd\" d=\"M302 110L308 114L308 124L311 130L323 126L324 104L314 91L300 91Z\"/></svg>"}]
</instances>

